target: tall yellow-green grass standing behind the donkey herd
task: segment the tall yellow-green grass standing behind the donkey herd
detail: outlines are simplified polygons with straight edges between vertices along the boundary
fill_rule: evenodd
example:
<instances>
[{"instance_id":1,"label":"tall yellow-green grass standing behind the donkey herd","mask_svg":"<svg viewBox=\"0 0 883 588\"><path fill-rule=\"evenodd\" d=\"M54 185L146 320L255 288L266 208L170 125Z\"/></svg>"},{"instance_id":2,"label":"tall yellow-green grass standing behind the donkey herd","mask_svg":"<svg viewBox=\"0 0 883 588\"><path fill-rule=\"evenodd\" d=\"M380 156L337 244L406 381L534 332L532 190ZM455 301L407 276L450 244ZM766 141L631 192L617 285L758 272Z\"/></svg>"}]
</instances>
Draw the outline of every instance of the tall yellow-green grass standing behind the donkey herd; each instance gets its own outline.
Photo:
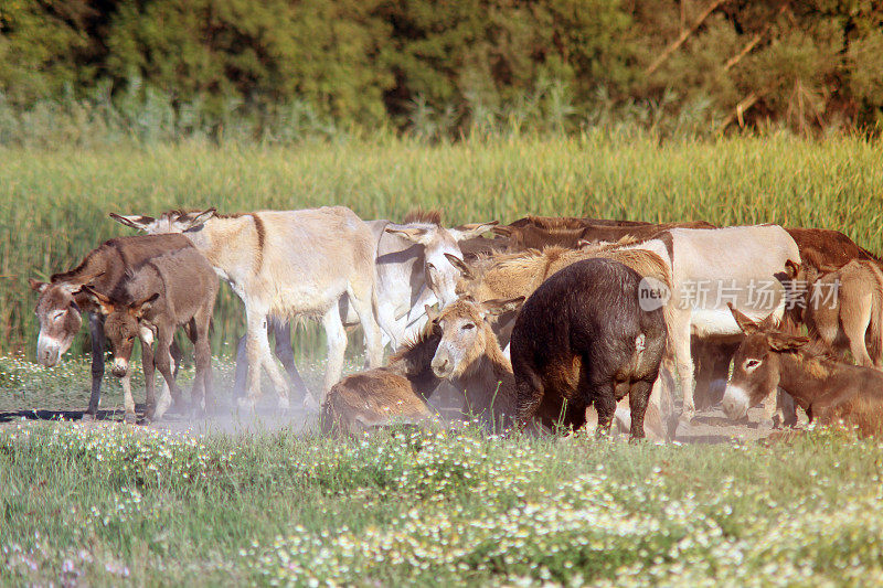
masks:
<instances>
[{"instance_id":1,"label":"tall yellow-green grass standing behind the donkey herd","mask_svg":"<svg viewBox=\"0 0 883 588\"><path fill-rule=\"evenodd\" d=\"M451 224L529 213L775 222L837 228L881 250L881 140L855 137L660 143L629 130L433 146L379 133L291 147L0 150L0 350L33 349L29 276L70 268L103 239L130 234L110 211L343 204L364 218L393 220L438 206ZM241 304L223 291L215 345L243 332Z\"/></svg>"}]
</instances>

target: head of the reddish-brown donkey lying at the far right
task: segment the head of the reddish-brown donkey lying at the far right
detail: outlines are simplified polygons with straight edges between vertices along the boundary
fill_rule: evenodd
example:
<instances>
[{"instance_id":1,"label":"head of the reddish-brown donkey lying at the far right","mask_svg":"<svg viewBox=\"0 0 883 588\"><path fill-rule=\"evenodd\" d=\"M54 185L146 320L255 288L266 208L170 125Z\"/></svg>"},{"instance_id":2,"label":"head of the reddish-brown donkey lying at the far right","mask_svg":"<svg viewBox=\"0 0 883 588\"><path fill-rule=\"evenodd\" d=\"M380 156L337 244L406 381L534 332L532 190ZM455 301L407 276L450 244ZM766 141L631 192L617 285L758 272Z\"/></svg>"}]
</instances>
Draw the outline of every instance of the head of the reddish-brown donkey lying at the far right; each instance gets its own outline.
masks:
<instances>
[{"instance_id":1,"label":"head of the reddish-brown donkey lying at the far right","mask_svg":"<svg viewBox=\"0 0 883 588\"><path fill-rule=\"evenodd\" d=\"M775 392L780 378L779 352L805 345L809 340L776 329L776 319L769 314L759 323L730 306L730 311L745 339L733 360L733 376L724 392L724 413L741 419L748 408Z\"/></svg>"}]
</instances>

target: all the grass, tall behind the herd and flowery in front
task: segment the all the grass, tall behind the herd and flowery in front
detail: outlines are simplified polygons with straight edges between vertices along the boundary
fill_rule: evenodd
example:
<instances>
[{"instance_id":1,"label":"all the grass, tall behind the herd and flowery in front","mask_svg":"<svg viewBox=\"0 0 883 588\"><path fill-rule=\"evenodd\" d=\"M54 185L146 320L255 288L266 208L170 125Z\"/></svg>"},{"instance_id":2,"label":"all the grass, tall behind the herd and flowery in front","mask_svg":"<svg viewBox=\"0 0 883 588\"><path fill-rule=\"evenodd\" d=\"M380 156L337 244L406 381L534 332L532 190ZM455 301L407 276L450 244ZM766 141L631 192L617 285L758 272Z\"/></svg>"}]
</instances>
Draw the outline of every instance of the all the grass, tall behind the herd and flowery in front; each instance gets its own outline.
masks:
<instances>
[{"instance_id":1,"label":"all the grass, tall behind the herd and flowery in front","mask_svg":"<svg viewBox=\"0 0 883 588\"><path fill-rule=\"evenodd\" d=\"M772 221L839 228L880 252L882 158L880 141L788 136L0 151L0 410L85 407L81 345L53 370L29 361L26 278L127 234L110 211L347 204L400 218L423 205L451 224L528 213ZM243 331L223 292L222 389ZM319 343L315 331L298 339L301 355ZM316 389L321 362L300 365ZM119 406L118 384L105 382L103 406ZM883 581L882 469L883 445L832 431L655 446L10 423L0 584L865 586Z\"/></svg>"}]
</instances>

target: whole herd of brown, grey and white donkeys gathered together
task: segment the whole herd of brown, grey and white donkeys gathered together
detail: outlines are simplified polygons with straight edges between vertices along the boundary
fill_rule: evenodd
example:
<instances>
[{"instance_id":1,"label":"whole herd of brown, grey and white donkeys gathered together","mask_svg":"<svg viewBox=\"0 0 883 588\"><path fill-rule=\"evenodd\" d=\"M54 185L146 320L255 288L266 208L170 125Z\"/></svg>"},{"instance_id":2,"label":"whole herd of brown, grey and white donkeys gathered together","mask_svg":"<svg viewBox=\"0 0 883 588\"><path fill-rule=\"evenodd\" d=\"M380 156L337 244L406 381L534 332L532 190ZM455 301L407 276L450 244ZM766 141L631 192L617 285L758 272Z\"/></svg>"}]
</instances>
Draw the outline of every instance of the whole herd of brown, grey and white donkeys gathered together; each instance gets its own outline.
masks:
<instances>
[{"instance_id":1,"label":"whole herd of brown, grey and white donkeys gathered together","mask_svg":"<svg viewBox=\"0 0 883 588\"><path fill-rule=\"evenodd\" d=\"M342 206L110 216L145 235L31 280L41 364L60 361L88 316L84 419L98 408L109 342L125 418L136 421L136 339L146 419L216 409L209 331L220 277L245 304L240 408L254 410L266 372L281 410L289 394L321 405L326 432L428 426L439 386L501 431L603 434L616 423L632 438L670 440L719 403L732 419L762 404L766 423L794 425L797 405L821 424L883 429L883 261L837 231L538 216L451 228L438 212L400 224ZM294 361L290 324L305 318L327 335L320 396ZM341 379L355 324L368 366ZM190 400L175 384L179 328L194 346Z\"/></svg>"}]
</instances>

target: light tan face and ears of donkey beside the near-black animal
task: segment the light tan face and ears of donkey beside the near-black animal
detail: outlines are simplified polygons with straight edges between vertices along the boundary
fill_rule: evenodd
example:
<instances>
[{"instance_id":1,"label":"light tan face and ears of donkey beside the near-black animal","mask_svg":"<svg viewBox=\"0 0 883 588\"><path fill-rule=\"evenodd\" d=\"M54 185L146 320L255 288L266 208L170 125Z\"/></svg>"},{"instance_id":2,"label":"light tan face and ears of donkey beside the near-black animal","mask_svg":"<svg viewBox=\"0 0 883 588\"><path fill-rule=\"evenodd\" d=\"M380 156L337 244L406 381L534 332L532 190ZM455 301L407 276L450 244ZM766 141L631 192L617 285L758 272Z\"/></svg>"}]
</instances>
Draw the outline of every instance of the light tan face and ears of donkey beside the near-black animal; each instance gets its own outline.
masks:
<instances>
[{"instance_id":1,"label":"light tan face and ears of donkey beside the near-black animal","mask_svg":"<svg viewBox=\"0 0 883 588\"><path fill-rule=\"evenodd\" d=\"M435 375L445 378L464 376L478 365L479 357L494 346L499 349L497 335L487 319L514 310L523 301L524 297L480 303L460 298L440 313L426 307L433 329L442 336L432 362Z\"/></svg>"}]
</instances>

